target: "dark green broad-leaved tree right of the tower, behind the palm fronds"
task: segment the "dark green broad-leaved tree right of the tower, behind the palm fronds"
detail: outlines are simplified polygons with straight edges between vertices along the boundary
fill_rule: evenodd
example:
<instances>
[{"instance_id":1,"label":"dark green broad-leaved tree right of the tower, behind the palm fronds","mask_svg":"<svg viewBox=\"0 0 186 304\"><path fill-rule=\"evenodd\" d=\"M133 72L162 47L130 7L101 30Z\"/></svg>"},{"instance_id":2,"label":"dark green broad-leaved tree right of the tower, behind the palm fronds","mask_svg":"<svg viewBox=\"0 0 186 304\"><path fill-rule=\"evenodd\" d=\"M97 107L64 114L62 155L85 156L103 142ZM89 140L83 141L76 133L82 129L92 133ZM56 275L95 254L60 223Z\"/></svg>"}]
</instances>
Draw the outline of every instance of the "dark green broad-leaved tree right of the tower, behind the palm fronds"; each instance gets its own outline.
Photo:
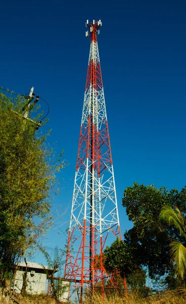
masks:
<instances>
[{"instance_id":1,"label":"dark green broad-leaved tree right of the tower, behind the palm fronds","mask_svg":"<svg viewBox=\"0 0 186 304\"><path fill-rule=\"evenodd\" d=\"M177 189L167 191L165 187L156 188L154 185L145 186L134 183L124 192L123 206L133 227L124 234L122 253L112 245L107 250L108 266L119 265L126 275L133 270L145 268L148 276L153 280L164 281L168 286L176 286L177 279L173 276L174 261L170 254L172 240L181 242L179 231L174 226L169 226L159 218L163 206L172 208L177 206L183 216L186 214L186 188L180 192ZM104 253L106 256L106 252ZM122 259L123 262L120 262ZM106 263L107 263L106 261ZM105 266L106 267L106 266Z\"/></svg>"}]
</instances>

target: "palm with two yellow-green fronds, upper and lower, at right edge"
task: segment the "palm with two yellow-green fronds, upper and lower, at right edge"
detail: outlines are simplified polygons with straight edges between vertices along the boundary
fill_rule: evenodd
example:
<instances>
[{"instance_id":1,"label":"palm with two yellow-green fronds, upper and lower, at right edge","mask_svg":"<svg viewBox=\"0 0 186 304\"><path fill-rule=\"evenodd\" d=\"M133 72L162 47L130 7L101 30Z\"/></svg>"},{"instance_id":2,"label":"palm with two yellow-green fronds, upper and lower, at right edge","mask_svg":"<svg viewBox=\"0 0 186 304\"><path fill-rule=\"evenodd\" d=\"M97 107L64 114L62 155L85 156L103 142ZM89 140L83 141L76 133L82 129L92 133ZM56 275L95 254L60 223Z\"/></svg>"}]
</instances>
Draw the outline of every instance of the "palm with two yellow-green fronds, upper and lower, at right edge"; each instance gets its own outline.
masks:
<instances>
[{"instance_id":1,"label":"palm with two yellow-green fronds, upper and lower, at right edge","mask_svg":"<svg viewBox=\"0 0 186 304\"><path fill-rule=\"evenodd\" d=\"M186 242L185 217L177 207L174 210L170 206L162 207L160 219L168 223L169 226L175 226L180 236L183 237L184 243ZM183 279L186 271L186 248L178 240L172 240L170 247L173 260L176 263L176 273Z\"/></svg>"}]
</instances>

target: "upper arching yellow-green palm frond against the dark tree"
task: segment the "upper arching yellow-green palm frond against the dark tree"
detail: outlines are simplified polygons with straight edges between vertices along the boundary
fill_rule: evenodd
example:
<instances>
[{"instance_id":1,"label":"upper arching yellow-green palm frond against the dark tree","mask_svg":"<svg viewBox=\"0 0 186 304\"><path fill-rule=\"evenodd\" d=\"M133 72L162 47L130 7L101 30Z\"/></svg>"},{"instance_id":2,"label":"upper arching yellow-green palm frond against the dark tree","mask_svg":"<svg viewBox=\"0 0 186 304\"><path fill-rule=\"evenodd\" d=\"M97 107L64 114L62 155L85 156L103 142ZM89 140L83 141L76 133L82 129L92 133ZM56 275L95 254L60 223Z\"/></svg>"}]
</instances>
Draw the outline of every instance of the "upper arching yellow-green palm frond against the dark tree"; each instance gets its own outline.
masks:
<instances>
[{"instance_id":1,"label":"upper arching yellow-green palm frond against the dark tree","mask_svg":"<svg viewBox=\"0 0 186 304\"><path fill-rule=\"evenodd\" d=\"M180 235L186 239L184 217L177 207L173 210L170 206L164 206L160 212L160 219L166 221L169 226L174 225L179 230Z\"/></svg>"}]
</instances>

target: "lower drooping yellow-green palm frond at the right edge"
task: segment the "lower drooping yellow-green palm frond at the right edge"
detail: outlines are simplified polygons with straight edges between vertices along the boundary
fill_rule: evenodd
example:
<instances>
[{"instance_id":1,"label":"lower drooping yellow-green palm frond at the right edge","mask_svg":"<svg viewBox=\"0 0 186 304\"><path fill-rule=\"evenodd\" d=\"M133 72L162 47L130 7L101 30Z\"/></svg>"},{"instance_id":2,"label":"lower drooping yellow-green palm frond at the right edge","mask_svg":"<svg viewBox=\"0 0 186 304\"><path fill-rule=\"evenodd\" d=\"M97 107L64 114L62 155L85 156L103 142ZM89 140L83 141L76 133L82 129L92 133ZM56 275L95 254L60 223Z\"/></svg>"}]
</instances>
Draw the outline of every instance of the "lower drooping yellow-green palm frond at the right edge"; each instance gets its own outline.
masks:
<instances>
[{"instance_id":1,"label":"lower drooping yellow-green palm frond at the right edge","mask_svg":"<svg viewBox=\"0 0 186 304\"><path fill-rule=\"evenodd\" d=\"M176 262L176 272L183 279L186 270L186 248L178 241L173 241L170 245L174 261Z\"/></svg>"}]
</instances>

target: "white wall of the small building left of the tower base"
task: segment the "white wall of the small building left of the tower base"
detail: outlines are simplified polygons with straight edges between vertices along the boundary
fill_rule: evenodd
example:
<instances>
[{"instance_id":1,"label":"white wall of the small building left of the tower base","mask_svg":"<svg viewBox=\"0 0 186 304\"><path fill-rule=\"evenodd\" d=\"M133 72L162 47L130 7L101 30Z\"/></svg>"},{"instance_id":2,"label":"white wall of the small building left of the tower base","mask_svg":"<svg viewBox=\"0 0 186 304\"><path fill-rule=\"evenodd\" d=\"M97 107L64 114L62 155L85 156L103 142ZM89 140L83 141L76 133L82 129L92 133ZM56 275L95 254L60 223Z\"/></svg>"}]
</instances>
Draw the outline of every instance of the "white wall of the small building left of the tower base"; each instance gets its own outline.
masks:
<instances>
[{"instance_id":1,"label":"white wall of the small building left of the tower base","mask_svg":"<svg viewBox=\"0 0 186 304\"><path fill-rule=\"evenodd\" d=\"M14 289L20 293L23 285L23 274L24 271L16 271ZM27 284L26 287L27 293L32 294L40 294L46 293L46 285L47 285L47 275L35 273L34 275L30 275L30 272L27 273Z\"/></svg>"}]
</instances>

